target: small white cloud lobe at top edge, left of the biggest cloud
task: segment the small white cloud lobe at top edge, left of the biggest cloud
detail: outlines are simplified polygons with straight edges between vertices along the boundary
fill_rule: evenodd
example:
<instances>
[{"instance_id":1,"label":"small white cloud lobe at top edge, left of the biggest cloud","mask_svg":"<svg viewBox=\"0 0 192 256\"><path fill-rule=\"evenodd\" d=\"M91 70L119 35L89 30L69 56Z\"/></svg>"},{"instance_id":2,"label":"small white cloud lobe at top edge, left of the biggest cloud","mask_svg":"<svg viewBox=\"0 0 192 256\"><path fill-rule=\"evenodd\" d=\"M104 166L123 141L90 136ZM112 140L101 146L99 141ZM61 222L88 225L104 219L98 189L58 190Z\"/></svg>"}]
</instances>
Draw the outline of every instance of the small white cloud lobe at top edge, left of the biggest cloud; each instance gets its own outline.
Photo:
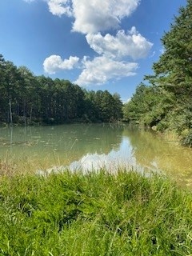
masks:
<instances>
[{"instance_id":1,"label":"small white cloud lobe at top edge, left of the biggest cloud","mask_svg":"<svg viewBox=\"0 0 192 256\"><path fill-rule=\"evenodd\" d=\"M66 14L67 16L72 16L72 8L70 0L46 0L49 10L52 14L62 16Z\"/></svg>"}]
</instances>

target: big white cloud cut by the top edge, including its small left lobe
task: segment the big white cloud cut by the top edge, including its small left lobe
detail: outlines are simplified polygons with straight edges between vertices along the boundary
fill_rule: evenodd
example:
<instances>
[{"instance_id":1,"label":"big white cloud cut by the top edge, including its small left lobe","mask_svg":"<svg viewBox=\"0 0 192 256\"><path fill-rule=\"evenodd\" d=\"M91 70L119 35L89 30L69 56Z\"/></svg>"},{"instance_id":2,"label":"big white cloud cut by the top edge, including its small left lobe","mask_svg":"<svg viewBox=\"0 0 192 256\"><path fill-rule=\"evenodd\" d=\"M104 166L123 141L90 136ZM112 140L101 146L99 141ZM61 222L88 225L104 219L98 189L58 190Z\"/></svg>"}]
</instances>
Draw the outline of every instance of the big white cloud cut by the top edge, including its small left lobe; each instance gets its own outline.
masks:
<instances>
[{"instance_id":1,"label":"big white cloud cut by the top edge, including its small left lobe","mask_svg":"<svg viewBox=\"0 0 192 256\"><path fill-rule=\"evenodd\" d=\"M52 14L74 16L73 30L83 34L117 29L140 0L46 0Z\"/></svg>"}]
</instances>

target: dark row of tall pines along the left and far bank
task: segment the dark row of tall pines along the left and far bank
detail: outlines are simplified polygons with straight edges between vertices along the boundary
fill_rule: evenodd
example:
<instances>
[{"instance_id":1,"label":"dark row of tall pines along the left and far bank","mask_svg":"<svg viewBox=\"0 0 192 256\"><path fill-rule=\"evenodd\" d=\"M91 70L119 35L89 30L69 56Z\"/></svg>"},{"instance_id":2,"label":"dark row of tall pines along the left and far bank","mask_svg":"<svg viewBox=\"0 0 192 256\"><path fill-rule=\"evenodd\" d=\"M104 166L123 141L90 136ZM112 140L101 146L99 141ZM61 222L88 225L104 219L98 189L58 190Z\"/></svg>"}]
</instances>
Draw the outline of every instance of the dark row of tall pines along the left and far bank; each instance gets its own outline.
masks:
<instances>
[{"instance_id":1,"label":"dark row of tall pines along the left and far bank","mask_svg":"<svg viewBox=\"0 0 192 256\"><path fill-rule=\"evenodd\" d=\"M68 80L35 76L0 54L0 123L114 122L121 118L118 94L89 91Z\"/></svg>"}]
</instances>

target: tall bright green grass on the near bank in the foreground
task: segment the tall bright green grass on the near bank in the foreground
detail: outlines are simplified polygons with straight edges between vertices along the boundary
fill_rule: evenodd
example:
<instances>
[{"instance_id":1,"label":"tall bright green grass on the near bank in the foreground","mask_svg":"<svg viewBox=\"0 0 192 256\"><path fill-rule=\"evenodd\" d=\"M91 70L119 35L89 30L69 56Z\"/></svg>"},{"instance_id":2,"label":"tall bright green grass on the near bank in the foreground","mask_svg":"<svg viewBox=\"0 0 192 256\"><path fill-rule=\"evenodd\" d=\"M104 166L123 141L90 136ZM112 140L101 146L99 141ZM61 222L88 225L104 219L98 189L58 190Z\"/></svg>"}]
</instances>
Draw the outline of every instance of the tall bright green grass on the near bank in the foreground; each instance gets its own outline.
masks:
<instances>
[{"instance_id":1,"label":"tall bright green grass on the near bank in the foreground","mask_svg":"<svg viewBox=\"0 0 192 256\"><path fill-rule=\"evenodd\" d=\"M0 181L0 255L192 254L192 195L166 178L101 171Z\"/></svg>"}]
</instances>

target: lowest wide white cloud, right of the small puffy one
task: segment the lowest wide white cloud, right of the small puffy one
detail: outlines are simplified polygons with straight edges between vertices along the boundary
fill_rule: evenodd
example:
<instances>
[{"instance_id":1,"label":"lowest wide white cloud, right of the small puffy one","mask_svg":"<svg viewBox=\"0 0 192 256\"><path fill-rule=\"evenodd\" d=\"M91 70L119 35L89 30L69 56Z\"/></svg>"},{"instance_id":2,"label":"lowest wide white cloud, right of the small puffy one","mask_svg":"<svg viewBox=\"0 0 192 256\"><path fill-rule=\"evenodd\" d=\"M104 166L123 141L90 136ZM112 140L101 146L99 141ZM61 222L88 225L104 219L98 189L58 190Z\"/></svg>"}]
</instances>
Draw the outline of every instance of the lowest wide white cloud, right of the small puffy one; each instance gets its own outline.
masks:
<instances>
[{"instance_id":1,"label":"lowest wide white cloud, right of the small puffy one","mask_svg":"<svg viewBox=\"0 0 192 256\"><path fill-rule=\"evenodd\" d=\"M96 57L93 61L84 58L84 69L75 81L79 86L101 85L110 79L129 77L135 73L138 63L118 62L105 56Z\"/></svg>"}]
</instances>

